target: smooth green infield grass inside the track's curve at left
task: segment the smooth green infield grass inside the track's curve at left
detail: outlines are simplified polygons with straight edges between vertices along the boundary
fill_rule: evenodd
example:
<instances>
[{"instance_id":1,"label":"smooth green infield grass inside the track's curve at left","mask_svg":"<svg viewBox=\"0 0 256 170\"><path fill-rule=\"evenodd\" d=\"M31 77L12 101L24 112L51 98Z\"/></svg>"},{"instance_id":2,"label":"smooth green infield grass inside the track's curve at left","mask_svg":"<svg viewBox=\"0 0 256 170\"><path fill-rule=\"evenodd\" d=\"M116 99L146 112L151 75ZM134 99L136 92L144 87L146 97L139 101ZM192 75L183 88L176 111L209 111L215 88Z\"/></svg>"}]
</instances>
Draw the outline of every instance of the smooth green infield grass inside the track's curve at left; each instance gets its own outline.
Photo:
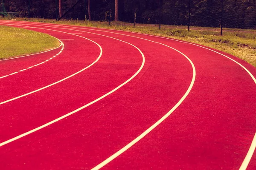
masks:
<instances>
[{"instance_id":1,"label":"smooth green infield grass inside the track's curve at left","mask_svg":"<svg viewBox=\"0 0 256 170\"><path fill-rule=\"evenodd\" d=\"M46 51L58 47L60 42L48 34L0 26L0 44L0 59L6 59Z\"/></svg>"}]
</instances>

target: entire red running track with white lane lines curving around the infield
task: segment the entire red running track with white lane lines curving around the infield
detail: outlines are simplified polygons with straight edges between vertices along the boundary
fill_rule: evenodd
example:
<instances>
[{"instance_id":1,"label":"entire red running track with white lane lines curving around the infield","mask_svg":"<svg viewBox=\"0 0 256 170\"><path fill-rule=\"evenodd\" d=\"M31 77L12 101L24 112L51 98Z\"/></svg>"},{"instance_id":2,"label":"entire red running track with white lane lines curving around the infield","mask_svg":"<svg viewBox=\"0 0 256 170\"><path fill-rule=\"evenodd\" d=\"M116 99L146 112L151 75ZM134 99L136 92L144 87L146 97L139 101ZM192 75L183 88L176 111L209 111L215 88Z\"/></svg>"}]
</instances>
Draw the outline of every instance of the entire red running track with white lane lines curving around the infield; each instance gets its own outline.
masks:
<instances>
[{"instance_id":1,"label":"entire red running track with white lane lines curving around the infield","mask_svg":"<svg viewBox=\"0 0 256 170\"><path fill-rule=\"evenodd\" d=\"M64 44L0 60L1 170L256 169L252 65L145 34L0 25Z\"/></svg>"}]
</instances>

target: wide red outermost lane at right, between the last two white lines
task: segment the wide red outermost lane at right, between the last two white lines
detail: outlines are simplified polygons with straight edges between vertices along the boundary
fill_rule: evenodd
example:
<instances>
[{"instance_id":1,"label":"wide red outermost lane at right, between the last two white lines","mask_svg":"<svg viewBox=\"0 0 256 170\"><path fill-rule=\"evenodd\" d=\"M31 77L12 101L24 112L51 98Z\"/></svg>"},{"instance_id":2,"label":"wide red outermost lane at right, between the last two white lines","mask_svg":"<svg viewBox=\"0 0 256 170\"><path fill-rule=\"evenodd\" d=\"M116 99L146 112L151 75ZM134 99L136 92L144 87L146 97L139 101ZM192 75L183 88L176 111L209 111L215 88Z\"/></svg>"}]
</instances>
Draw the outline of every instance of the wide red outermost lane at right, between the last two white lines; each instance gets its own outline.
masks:
<instances>
[{"instance_id":1,"label":"wide red outermost lane at right, between the last two white lines","mask_svg":"<svg viewBox=\"0 0 256 170\"><path fill-rule=\"evenodd\" d=\"M155 39L160 40L159 38L155 38ZM129 152L127 151L127 153L125 153L124 156L121 156L121 158L118 158L116 162L113 161L113 163L111 163L108 166L113 166L113 167L123 166L126 168L130 167L131 164L129 164L129 162L131 161L127 161L127 158L131 157L131 152L134 152L134 153L137 153L139 156L139 157L134 156L134 158L136 158L136 162L138 162L138 160L140 162L140 164L135 164L137 165L137 168L138 167L141 168L141 166L154 167L154 166L158 166L159 164L161 164L163 168L166 166L177 168L177 167L181 167L180 164L182 164L184 168L188 168L187 166L192 166L193 164L193 167L197 167L197 168L208 167L210 169L211 168L218 169L220 168L220 166L223 165L223 167L226 169L230 169L230 167L233 167L232 169L237 169L239 167L239 164L241 164L241 160L245 156L248 145L250 145L253 133L255 132L253 131L255 130L254 129L255 119L253 116L253 113L255 113L255 110L252 110L252 104L255 103L254 102L255 86L253 86L253 82L250 80L250 77L246 74L246 72L244 72L241 68L239 69L237 65L232 64L232 62L230 62L229 60L223 59L223 57L218 56L212 52L208 51L208 53L205 53L206 50L202 50L200 48L195 48L195 47L193 48L195 48L196 51L193 52L192 50L189 51L188 49L189 45L184 47L180 45L182 43L171 43L168 40L166 40L165 43L169 43L172 46L176 45L175 46L176 48L181 49L181 51L186 51L186 53L189 54L189 57L192 58L192 61L196 63L197 70L200 71L197 78L198 84L195 86L196 91L193 92L193 96L191 97L191 99L189 99L190 102L185 103L185 105L183 105L183 108L182 107L179 108L181 112L178 111L175 114L177 116L174 116L174 115L172 116L172 124L179 125L179 128L178 129L167 128L168 132L166 131L163 132L163 134L170 133L172 134L172 136L175 136L174 133L183 132L182 134L176 135L176 136L180 136L179 138L177 138L177 142L179 141L178 139L183 139L184 142L182 141L182 143L189 143L189 145L180 144L180 143L177 145L175 143L172 143L172 140L170 138L163 138L164 139L163 142L160 142L160 143L161 144L166 143L167 145L165 147L163 146L162 149L160 149L161 147L157 147L157 148L159 150L163 150L163 152L166 150L173 152L173 148L175 148L176 151L171 155L176 154L176 156L170 157L170 154L168 153L167 155L157 154L155 151L151 151L149 154L149 157L147 157L144 160L143 157L141 156L142 154L139 154L141 148L145 148L145 150L150 150L147 148L147 146L148 147L158 146L157 143L155 145L148 144L148 141L151 141L151 142L154 141L154 137L153 138L149 137L149 138L152 138L152 140L144 139L144 142L141 142L138 147L133 147L135 148L135 150L131 148L131 150L134 150L134 151L128 150ZM190 47L192 48L192 45ZM201 54L200 57L198 57L198 52ZM244 63L239 59L236 59L236 60L238 60L239 62L242 62L243 65L245 65L246 68L248 68L255 75L255 68L251 67L250 65ZM227 67L224 67L222 65L228 65L230 69L227 69ZM213 75L215 77L212 77ZM222 84L219 84L220 82ZM230 83L232 84L230 85ZM204 84L207 84L207 86L205 86ZM237 87L231 87L232 85ZM199 91L200 93L198 94ZM209 93L209 91L211 93ZM234 96L230 95L230 92L232 91L236 92ZM214 100L212 101L212 99ZM217 99L222 99L223 101L218 101ZM209 101L212 103L210 103ZM241 103L241 101L243 102ZM217 105L215 105L216 103ZM191 113L193 112L190 112L190 110L188 110L188 106L195 109L195 115L191 115ZM220 108L221 108L221 112L220 112ZM204 111L207 111L208 114L205 115ZM239 115L227 114L228 111L231 111L231 113L238 111ZM250 114L250 112L252 114ZM179 113L182 115L181 117L178 116ZM222 114L218 114L218 113L222 113ZM214 119L212 119L212 116L210 115L214 116ZM206 117L204 118L204 116ZM204 119L198 122L198 118L200 119L204 118ZM230 118L232 119L230 120ZM184 119L186 121L184 121ZM210 122L209 122L209 119L211 120ZM177 120L180 120L181 122L178 123ZM192 120L195 121L194 122L195 125L189 123ZM225 120L229 120L229 121L225 121ZM241 120L243 121L241 122ZM205 130L202 131L201 129L202 127L205 126L204 124L207 124L207 126L205 127ZM181 126L182 127L181 129L180 129L180 125L183 125ZM223 129L217 128L217 126L220 126ZM192 127L193 128L196 127L196 128L192 130L193 137L191 137L190 139L200 139L202 142L204 141L204 142L207 142L207 144L217 146L215 148L218 148L218 149L215 150L214 148L214 150L209 150L208 148L209 145L204 145L198 142L197 140L186 139L185 136L189 136L188 134L190 134L190 132L186 130L191 130ZM230 127L236 127L236 129L234 128L230 129ZM163 125L163 129L165 128L166 128L166 124ZM171 127L171 128L174 128L174 127ZM216 130L216 132L213 133L212 129ZM169 130L171 131L169 132ZM220 133L222 132L222 130L226 131L229 135L225 133L227 136L224 137L223 133ZM154 133L155 135L162 136L160 135L161 128L156 131L157 133ZM199 134L198 134L198 131L200 131ZM239 135L234 136L233 135L234 132L240 135L245 135L246 137L245 138L239 137L238 138L239 140L237 141L236 139ZM154 136L154 134L152 133L151 136ZM209 136L209 134L211 135L211 137ZM202 137L200 138L198 135L204 136L204 138ZM218 141L220 137L221 137L222 143L219 143ZM218 139L217 140L218 144L215 144L216 139ZM242 145L241 145L241 141L243 142ZM148 145L145 145L145 143L147 143ZM170 143L172 143L171 148L168 147ZM195 147L191 147L193 144L194 146L198 146L198 147L201 146L202 147L201 149L202 150L205 149L206 152L204 154L198 153L198 155L193 153L192 150L195 150ZM233 144L234 146L232 146ZM189 152L187 147L191 148L191 152L193 154ZM163 152L160 152L160 153L163 153ZM234 152L240 155L237 156L236 153ZM209 156L209 153L211 153L212 156ZM231 158L228 158L231 153L233 153L233 155L231 155ZM202 155L204 155L204 159L199 159L200 156ZM218 155L224 155L224 156L218 157ZM154 158L156 157L159 159L155 160ZM151 158L153 160L148 161L148 158ZM167 162L170 162L170 161L174 161L174 162L172 164L168 164ZM218 162L218 164L216 162ZM111 169L111 167L109 168ZM131 167L131 168L136 168L136 167Z\"/></svg>"}]
</instances>

